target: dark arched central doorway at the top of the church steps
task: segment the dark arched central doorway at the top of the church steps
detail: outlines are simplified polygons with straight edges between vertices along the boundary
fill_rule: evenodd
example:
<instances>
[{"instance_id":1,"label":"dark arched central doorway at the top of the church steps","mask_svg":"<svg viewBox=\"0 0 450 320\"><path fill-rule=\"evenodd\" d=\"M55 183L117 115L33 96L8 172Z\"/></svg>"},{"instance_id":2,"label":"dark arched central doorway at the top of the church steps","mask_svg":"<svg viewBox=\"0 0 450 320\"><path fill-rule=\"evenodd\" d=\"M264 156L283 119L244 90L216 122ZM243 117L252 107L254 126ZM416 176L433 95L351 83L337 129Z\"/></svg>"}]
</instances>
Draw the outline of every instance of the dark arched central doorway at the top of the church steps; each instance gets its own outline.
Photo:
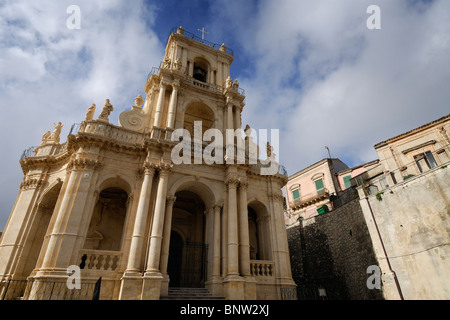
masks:
<instances>
[{"instance_id":1,"label":"dark arched central doorway at the top of the church steps","mask_svg":"<svg viewBox=\"0 0 450 320\"><path fill-rule=\"evenodd\" d=\"M192 191L175 194L167 273L170 287L205 286L207 246L205 204Z\"/></svg>"}]
</instances>

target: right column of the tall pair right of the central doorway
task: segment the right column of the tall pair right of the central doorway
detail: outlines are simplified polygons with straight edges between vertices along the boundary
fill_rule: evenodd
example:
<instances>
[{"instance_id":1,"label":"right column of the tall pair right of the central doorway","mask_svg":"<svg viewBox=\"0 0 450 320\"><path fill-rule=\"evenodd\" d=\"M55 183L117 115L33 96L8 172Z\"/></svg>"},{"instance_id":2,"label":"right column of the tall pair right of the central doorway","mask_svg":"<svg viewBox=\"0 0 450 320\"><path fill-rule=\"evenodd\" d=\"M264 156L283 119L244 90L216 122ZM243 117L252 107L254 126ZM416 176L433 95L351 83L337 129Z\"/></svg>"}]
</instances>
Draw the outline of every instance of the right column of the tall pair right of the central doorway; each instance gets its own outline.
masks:
<instances>
[{"instance_id":1,"label":"right column of the tall pair right of the central doorway","mask_svg":"<svg viewBox=\"0 0 450 320\"><path fill-rule=\"evenodd\" d=\"M250 276L250 240L248 235L247 182L239 183L239 269Z\"/></svg>"}]
</instances>

